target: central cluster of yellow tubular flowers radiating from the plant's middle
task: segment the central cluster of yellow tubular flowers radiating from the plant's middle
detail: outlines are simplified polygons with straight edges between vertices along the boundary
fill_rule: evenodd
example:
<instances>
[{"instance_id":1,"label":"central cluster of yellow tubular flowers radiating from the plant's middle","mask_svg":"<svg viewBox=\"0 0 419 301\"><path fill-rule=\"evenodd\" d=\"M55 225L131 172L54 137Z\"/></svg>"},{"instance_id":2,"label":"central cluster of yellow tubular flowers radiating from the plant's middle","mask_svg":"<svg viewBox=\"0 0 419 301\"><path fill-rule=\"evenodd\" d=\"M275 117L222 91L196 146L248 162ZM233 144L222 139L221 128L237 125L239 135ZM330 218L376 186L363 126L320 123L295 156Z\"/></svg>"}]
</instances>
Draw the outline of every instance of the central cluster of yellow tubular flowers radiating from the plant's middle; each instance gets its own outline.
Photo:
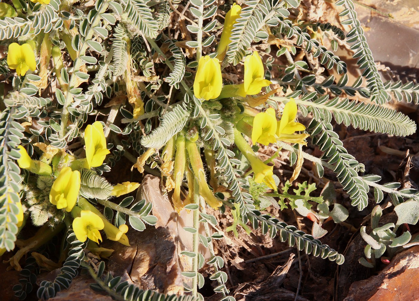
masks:
<instances>
[{"instance_id":1,"label":"central cluster of yellow tubular flowers radiating from the plant's middle","mask_svg":"<svg viewBox=\"0 0 419 301\"><path fill-rule=\"evenodd\" d=\"M217 56L212 54L201 57L198 62L197 74L194 80L194 95L197 98L223 99L236 98L236 101L243 101L249 103L251 107L263 104L269 95L275 93L278 89L268 93L267 95L252 98L248 95L257 95L261 92L263 87L269 86L272 82L264 77L264 65L261 57L257 51L247 55L244 58L244 79L243 83L238 85L222 85L221 64L228 51L228 46L232 42L231 34L234 24L240 17L241 7L233 4L230 11L227 13L224 22L224 29L222 31L220 44L217 49ZM250 98L250 100L249 100ZM234 101L234 100L232 100ZM252 105L253 104L253 105ZM242 133L251 137L253 144L260 143L269 145L277 141L290 142L292 144L306 145L305 139L308 134L296 134L296 131L304 131L305 126L295 121L297 116L297 105L295 100L291 100L285 105L282 112L282 117L277 120L277 114L274 108L267 108L266 111L258 112L257 110L248 110L246 112L246 105L244 105L244 113L236 114L235 116L235 134L234 141L241 153L250 162L254 181L256 183L264 183L268 188L277 190L273 176L273 166L262 162L253 152ZM247 108L251 109L247 106ZM179 139L184 138L178 138ZM185 142L179 141L181 148ZM221 202L214 199L212 192L208 189L205 182L205 173L201 168L199 152L196 149L196 144L191 141L186 141L186 149L189 154L192 170L199 182L199 194L205 198L207 203L213 208L221 206ZM180 184L184 174L184 155L183 150L176 151L175 160L175 192L173 194L173 204L176 208L181 207L180 201ZM182 160L182 162L181 162ZM178 164L177 164L178 163ZM182 167L179 167L182 165ZM191 191L191 189L189 189Z\"/></svg>"}]
</instances>

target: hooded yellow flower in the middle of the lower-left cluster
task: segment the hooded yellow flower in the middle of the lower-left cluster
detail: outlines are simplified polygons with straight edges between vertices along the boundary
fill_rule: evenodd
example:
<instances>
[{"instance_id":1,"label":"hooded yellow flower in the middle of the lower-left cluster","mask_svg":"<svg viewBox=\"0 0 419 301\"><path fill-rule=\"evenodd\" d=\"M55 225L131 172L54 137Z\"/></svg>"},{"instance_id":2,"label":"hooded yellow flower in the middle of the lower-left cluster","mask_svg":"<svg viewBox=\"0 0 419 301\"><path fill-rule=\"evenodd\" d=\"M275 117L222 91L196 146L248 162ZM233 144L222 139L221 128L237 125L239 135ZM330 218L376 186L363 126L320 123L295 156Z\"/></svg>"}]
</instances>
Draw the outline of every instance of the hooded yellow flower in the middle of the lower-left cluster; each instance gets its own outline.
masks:
<instances>
[{"instance_id":1,"label":"hooded yellow flower in the middle of the lower-left cluster","mask_svg":"<svg viewBox=\"0 0 419 301\"><path fill-rule=\"evenodd\" d=\"M72 171L71 167L63 167L54 181L49 193L49 201L57 209L70 212L77 202L80 190L80 172Z\"/></svg>"}]
</instances>

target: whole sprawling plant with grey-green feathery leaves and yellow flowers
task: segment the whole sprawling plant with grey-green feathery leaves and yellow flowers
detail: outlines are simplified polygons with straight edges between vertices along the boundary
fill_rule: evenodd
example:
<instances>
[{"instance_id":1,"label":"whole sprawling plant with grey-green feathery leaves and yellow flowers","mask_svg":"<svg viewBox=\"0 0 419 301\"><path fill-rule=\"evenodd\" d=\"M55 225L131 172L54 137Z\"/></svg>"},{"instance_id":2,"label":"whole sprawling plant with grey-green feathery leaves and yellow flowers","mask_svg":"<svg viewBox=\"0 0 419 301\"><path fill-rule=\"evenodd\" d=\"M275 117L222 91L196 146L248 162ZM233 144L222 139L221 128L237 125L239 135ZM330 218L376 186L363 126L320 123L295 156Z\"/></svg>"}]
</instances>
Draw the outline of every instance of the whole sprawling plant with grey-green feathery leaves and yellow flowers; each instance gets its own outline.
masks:
<instances>
[{"instance_id":1,"label":"whole sprawling plant with grey-green feathery leaves and yellow flowers","mask_svg":"<svg viewBox=\"0 0 419 301\"><path fill-rule=\"evenodd\" d=\"M297 183L304 160L314 163L318 178L325 168L332 170L358 210L369 198L380 203L386 196L398 209L397 225L374 229L372 235L362 229L369 244L362 264L374 265L387 248L415 244L410 234L396 238L395 231L399 224L417 223L418 192L363 175L365 166L347 152L333 124L414 134L415 123L385 103L391 95L418 103L419 87L383 82L352 1L334 5L341 10L341 24L305 20L298 0L0 3L0 39L7 53L0 59L0 87L7 91L0 117L0 250L15 251L9 262L22 271L16 295L26 297L39 271L31 257L22 269L23 258L65 232L67 259L54 281L41 283L39 298L55 296L87 269L96 288L118 300L199 299L202 244L211 255L207 264L214 270L209 278L218 282L215 291L222 300L234 300L212 244L222 235L211 234L216 219L207 206L222 213L230 208L234 222L227 230L235 235L237 226L248 233L249 226L260 228L341 265L343 255L313 235L324 235L321 223L329 217L343 222L347 209L315 196L314 184ZM326 40L334 48L350 45L362 69L356 82L348 82L347 65L323 46ZM314 70L319 64L340 78ZM358 101L359 96L369 100ZM275 145L278 152L262 161L256 151L261 145ZM310 146L322 155L305 152ZM274 175L272 164L282 151L295 166L287 181ZM182 272L191 278L184 296L140 290L104 273L105 262L94 264L84 252L97 254L105 237L129 245L128 231L156 223L150 213L159 208L144 200L114 203L113 197L139 186L124 180L129 175L115 174L124 181L117 185L103 177L112 175L122 156L139 172L159 173L164 190L173 190L173 211L193 215L194 224L186 229L193 248L180 254L192 258L191 270ZM272 204L308 216L313 235L266 214ZM378 211L371 216L377 227ZM39 226L38 232L15 245L28 223Z\"/></svg>"}]
</instances>

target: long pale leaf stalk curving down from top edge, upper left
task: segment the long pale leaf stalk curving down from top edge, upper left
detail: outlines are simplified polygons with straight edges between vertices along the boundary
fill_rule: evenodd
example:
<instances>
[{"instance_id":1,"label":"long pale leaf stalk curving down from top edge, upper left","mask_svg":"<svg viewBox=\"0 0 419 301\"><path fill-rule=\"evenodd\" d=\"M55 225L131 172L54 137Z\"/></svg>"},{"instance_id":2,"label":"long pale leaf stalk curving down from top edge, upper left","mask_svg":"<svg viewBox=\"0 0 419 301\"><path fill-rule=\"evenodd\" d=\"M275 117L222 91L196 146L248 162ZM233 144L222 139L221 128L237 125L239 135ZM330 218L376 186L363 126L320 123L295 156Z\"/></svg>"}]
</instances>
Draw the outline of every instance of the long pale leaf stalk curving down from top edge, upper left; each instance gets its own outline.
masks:
<instances>
[{"instance_id":1,"label":"long pale leaf stalk curving down from top edge, upper left","mask_svg":"<svg viewBox=\"0 0 419 301\"><path fill-rule=\"evenodd\" d=\"M96 13L95 17L93 18L93 22L92 22L85 38L84 38L82 46L80 47L79 55L74 61L74 70L79 70L80 67L83 65L83 60L80 59L80 57L85 55L86 50L88 49L88 46L89 46L87 44L87 42L92 40L93 33L95 32L93 28L98 26L99 23L101 22L101 14L104 13L108 9L109 2L110 1L104 1L101 5L100 10L98 11L98 13ZM67 90L67 93L65 95L64 107L62 108L61 128L60 128L60 131L59 131L59 136L61 138L63 138L65 136L65 131L67 129L68 113L69 113L68 108L70 106L70 103L73 100L72 94L71 94L70 91L71 91L72 88L74 88L76 78L77 78L77 76L75 75L75 72L73 72L71 77L70 77L70 81L68 83L68 90Z\"/></svg>"}]
</instances>

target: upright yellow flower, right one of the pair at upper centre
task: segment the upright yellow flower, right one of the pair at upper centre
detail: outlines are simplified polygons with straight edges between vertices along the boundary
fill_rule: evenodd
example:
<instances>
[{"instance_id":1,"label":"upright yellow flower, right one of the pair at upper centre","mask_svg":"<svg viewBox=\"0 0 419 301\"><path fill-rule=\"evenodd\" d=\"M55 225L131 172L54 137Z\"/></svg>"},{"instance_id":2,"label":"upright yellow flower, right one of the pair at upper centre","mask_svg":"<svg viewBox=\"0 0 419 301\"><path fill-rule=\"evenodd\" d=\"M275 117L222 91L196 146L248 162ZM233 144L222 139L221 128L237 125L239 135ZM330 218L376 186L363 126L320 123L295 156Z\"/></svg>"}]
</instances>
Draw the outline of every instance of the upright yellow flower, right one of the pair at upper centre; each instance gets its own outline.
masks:
<instances>
[{"instance_id":1,"label":"upright yellow flower, right one of the pair at upper centre","mask_svg":"<svg viewBox=\"0 0 419 301\"><path fill-rule=\"evenodd\" d=\"M269 80L265 80L265 72L261 57L257 51L248 55L244 59L244 83L243 83L243 97L246 95L259 94L262 87L272 84Z\"/></svg>"}]
</instances>

